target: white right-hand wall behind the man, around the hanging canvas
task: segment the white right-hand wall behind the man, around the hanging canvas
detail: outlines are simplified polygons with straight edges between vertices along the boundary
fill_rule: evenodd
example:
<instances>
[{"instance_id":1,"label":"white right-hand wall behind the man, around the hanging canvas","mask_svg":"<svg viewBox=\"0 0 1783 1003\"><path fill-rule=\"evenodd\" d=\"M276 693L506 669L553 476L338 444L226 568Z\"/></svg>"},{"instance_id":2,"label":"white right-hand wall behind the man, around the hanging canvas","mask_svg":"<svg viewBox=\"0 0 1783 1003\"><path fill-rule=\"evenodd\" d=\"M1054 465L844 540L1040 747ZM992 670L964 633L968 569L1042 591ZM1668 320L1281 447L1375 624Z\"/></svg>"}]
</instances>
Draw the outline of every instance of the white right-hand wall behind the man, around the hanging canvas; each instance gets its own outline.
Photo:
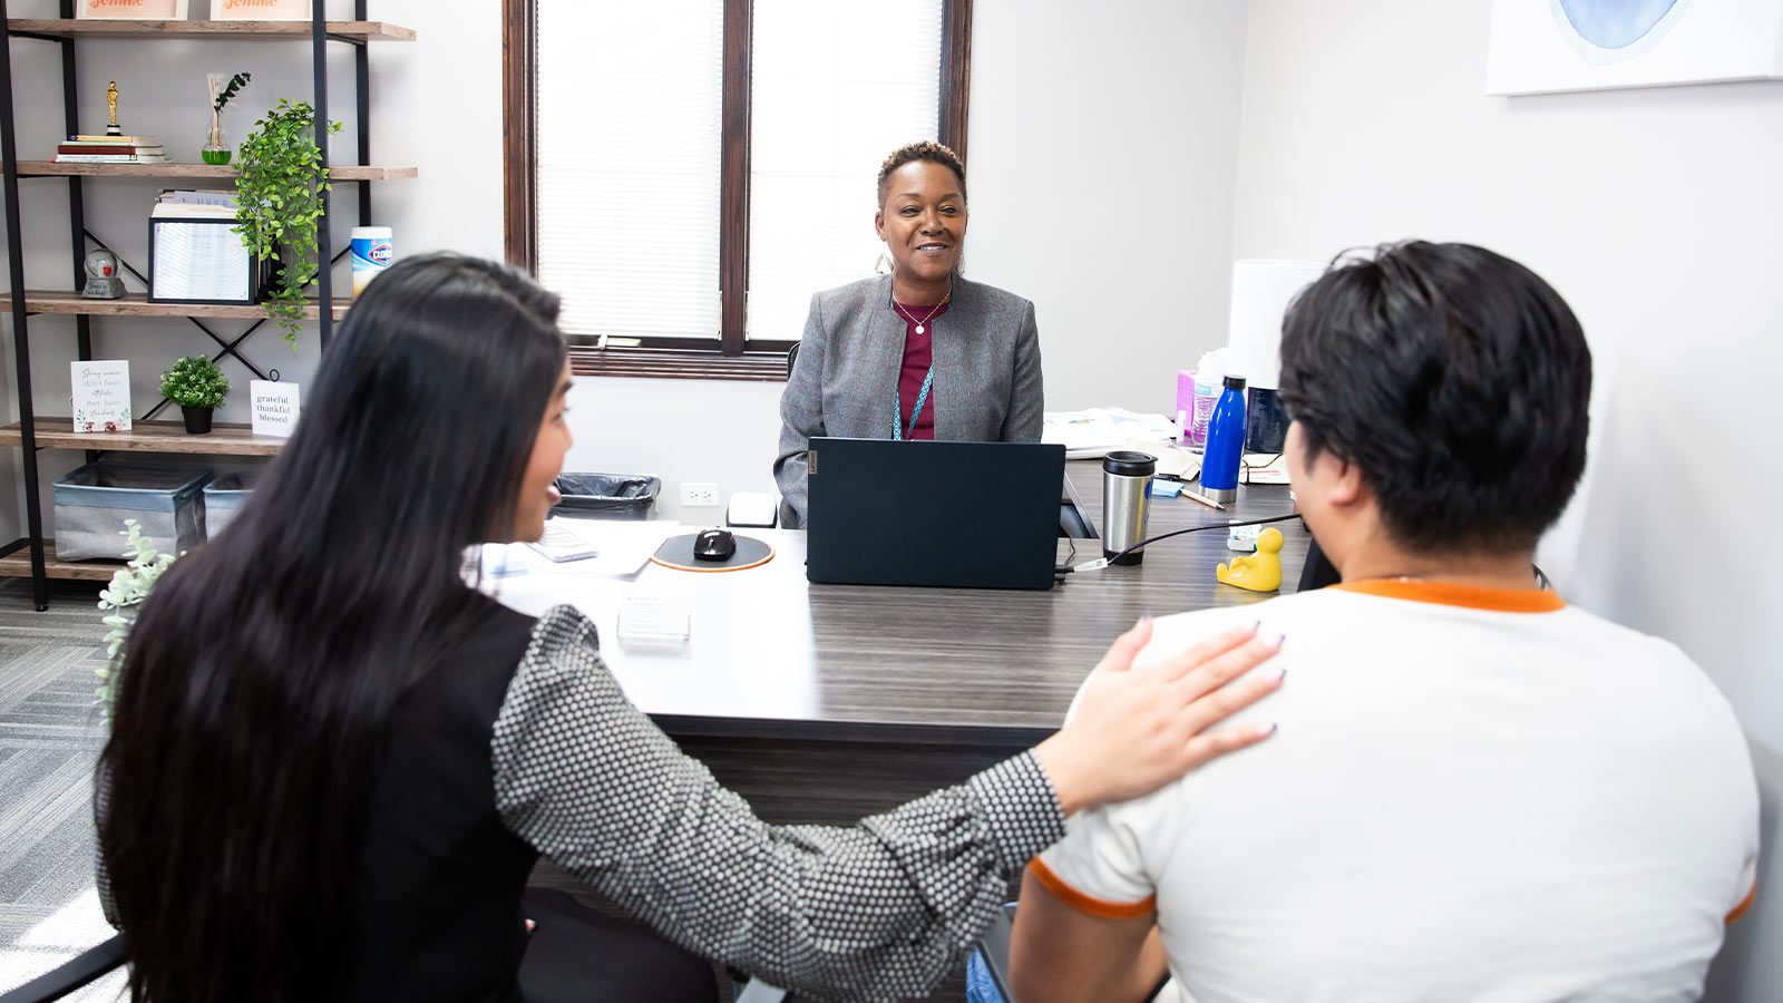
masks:
<instances>
[{"instance_id":1,"label":"white right-hand wall behind the man, around the hanging canvas","mask_svg":"<svg viewBox=\"0 0 1783 1003\"><path fill-rule=\"evenodd\" d=\"M1576 603L1681 644L1733 701L1767 878L1713 999L1783 998L1783 84L1483 95L1491 0L1252 0L1237 257L1460 239L1546 277L1614 385L1596 412ZM1760 949L1760 944L1765 948Z\"/></svg>"}]
</instances>

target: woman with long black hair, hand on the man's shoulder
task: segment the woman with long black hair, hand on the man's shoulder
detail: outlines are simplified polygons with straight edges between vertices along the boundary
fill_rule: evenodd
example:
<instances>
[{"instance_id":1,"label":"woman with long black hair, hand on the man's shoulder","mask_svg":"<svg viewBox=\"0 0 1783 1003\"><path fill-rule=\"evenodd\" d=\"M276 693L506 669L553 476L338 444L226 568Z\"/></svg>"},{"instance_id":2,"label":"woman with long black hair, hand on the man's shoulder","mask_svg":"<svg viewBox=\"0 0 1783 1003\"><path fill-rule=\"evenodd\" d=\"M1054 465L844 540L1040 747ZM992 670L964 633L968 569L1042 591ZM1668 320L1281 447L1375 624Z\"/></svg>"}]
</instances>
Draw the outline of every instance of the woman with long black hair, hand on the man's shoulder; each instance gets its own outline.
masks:
<instances>
[{"instance_id":1,"label":"woman with long black hair, hand on the man's shoulder","mask_svg":"<svg viewBox=\"0 0 1783 1003\"><path fill-rule=\"evenodd\" d=\"M522 999L540 853L699 958L824 998L922 994L1066 814L1264 737L1205 728L1278 685L1223 685L1271 644L1123 671L1141 625L1036 750L854 828L761 823L626 701L581 614L535 621L467 584L467 548L537 539L553 502L556 311L499 264L394 266L253 500L155 587L96 785L132 999ZM692 955L663 951L601 998L713 998L704 962L670 974Z\"/></svg>"}]
</instances>

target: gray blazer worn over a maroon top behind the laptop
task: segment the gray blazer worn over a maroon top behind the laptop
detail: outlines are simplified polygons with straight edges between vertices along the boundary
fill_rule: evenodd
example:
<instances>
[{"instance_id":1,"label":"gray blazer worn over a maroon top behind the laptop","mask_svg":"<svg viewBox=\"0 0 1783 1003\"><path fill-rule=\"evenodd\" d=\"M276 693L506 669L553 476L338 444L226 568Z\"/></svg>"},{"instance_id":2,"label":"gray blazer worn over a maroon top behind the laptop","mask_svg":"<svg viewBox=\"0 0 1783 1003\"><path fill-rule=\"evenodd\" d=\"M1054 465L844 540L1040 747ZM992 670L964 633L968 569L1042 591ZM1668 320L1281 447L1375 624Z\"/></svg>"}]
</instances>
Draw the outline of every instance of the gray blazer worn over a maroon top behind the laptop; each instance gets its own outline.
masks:
<instances>
[{"instance_id":1,"label":"gray blazer worn over a maroon top behind the laptop","mask_svg":"<svg viewBox=\"0 0 1783 1003\"><path fill-rule=\"evenodd\" d=\"M804 453L817 435L890 439L904 366L904 318L892 277L863 278L811 296L804 341L781 394L774 460L781 519L804 525ZM936 441L1038 443L1047 409L1034 303L954 277L954 298L934 321Z\"/></svg>"}]
</instances>

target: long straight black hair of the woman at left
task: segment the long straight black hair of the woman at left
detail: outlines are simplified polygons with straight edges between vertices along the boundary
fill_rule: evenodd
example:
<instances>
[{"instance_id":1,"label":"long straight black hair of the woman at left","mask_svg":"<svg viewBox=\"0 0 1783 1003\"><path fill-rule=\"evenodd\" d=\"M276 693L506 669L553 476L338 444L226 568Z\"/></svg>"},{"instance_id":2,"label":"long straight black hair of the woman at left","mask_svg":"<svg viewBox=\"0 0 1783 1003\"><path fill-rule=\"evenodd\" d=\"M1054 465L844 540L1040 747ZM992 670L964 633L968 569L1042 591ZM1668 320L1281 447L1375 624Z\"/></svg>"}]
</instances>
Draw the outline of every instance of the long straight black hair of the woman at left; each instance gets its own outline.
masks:
<instances>
[{"instance_id":1,"label":"long straight black hair of the woman at left","mask_svg":"<svg viewBox=\"0 0 1783 1003\"><path fill-rule=\"evenodd\" d=\"M241 516L144 603L100 758L132 999L333 996L392 707L480 603L465 548L512 525L556 312L499 264L390 268Z\"/></svg>"}]
</instances>

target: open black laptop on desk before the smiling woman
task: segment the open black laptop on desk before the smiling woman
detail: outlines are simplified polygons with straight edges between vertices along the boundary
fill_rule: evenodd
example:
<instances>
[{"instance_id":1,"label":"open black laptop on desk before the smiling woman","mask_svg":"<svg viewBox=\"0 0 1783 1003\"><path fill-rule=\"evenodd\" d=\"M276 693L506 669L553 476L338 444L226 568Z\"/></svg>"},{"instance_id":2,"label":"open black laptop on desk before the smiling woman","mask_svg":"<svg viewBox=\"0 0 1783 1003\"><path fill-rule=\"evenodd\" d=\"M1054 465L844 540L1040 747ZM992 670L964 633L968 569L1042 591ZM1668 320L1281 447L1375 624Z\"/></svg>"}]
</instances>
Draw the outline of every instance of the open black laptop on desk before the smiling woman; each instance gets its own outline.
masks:
<instances>
[{"instance_id":1,"label":"open black laptop on desk before the smiling woman","mask_svg":"<svg viewBox=\"0 0 1783 1003\"><path fill-rule=\"evenodd\" d=\"M806 578L1050 589L1064 446L811 439Z\"/></svg>"}]
</instances>

